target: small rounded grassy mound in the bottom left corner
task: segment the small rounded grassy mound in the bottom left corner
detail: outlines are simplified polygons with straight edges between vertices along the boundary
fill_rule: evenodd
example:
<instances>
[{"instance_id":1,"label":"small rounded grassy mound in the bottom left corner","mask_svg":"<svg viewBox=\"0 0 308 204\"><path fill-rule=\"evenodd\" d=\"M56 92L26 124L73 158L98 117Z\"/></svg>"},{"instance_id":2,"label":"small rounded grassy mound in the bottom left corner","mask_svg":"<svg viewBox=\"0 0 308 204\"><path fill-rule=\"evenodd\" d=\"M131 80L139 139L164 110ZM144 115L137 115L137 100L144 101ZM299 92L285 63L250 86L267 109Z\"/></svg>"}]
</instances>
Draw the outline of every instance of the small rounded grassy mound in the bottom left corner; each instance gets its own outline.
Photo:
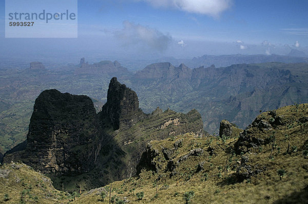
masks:
<instances>
[{"instance_id":1,"label":"small rounded grassy mound in the bottom left corner","mask_svg":"<svg viewBox=\"0 0 308 204\"><path fill-rule=\"evenodd\" d=\"M66 203L64 192L53 188L50 178L32 170L31 167L10 163L0 167L0 203ZM4 195L9 200L5 201ZM35 201L37 197L37 201Z\"/></svg>"}]
</instances>

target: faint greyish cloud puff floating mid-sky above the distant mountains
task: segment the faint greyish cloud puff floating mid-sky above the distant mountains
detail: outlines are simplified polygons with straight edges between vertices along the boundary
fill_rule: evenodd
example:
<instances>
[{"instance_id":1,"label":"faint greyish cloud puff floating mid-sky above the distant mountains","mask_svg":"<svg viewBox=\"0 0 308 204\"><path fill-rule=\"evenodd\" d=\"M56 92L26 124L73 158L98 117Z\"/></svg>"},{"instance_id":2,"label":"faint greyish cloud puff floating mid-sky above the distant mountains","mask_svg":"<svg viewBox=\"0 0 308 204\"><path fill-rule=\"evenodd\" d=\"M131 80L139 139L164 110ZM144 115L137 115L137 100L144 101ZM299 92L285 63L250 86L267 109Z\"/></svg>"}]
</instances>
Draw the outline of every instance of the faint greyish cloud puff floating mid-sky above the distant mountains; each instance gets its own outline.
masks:
<instances>
[{"instance_id":1,"label":"faint greyish cloud puff floating mid-sky above the distant mountains","mask_svg":"<svg viewBox=\"0 0 308 204\"><path fill-rule=\"evenodd\" d=\"M151 49L162 52L168 48L172 41L170 35L165 35L156 29L134 24L133 22L124 21L123 27L122 30L116 31L114 36L127 46L148 46Z\"/></svg>"}]
</instances>

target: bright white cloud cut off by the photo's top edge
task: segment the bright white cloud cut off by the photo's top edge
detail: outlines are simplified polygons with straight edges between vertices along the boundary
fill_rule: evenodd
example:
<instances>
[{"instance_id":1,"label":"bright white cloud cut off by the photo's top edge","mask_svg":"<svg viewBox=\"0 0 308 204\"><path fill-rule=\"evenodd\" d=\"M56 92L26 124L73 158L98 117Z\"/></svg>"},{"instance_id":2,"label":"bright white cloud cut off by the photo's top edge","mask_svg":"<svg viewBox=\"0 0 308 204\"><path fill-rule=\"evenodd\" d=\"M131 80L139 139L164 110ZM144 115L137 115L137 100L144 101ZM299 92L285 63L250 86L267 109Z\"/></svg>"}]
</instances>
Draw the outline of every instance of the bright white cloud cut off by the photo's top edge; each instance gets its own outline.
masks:
<instances>
[{"instance_id":1,"label":"bright white cloud cut off by the photo's top edge","mask_svg":"<svg viewBox=\"0 0 308 204\"><path fill-rule=\"evenodd\" d=\"M155 7L176 8L189 13L218 16L230 8L232 0L139 0Z\"/></svg>"}]
</instances>

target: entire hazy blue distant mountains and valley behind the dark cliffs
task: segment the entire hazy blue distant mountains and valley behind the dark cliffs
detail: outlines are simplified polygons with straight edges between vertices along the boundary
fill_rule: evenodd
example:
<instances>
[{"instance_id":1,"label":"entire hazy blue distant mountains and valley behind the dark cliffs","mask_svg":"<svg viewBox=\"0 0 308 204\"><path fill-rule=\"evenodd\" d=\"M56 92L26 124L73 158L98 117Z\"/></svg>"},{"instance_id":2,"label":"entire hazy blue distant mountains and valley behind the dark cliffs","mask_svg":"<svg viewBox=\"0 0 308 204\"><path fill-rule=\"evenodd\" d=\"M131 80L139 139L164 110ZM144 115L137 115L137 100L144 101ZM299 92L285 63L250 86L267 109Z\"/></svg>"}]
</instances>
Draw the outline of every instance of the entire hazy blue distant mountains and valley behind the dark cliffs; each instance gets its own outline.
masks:
<instances>
[{"instance_id":1,"label":"entire hazy blue distant mountains and valley behind the dark cliffs","mask_svg":"<svg viewBox=\"0 0 308 204\"><path fill-rule=\"evenodd\" d=\"M225 59L231 60L232 56L225 56ZM236 59L257 59L256 56L235 56L238 56ZM218 133L223 119L244 128L259 111L308 102L308 63L298 63L307 58L260 55L259 60L266 57L268 60L298 61L194 69L183 63L162 62L132 73L117 61L89 64L82 59L78 65L65 65L63 70L61 67L48 70L37 62L31 63L26 70L0 69L0 152L25 140L34 100L43 90L56 88L62 93L87 95L95 109L101 111L112 77L136 91L140 108L146 113L157 106L180 112L196 108L205 130L211 134Z\"/></svg>"}]
</instances>

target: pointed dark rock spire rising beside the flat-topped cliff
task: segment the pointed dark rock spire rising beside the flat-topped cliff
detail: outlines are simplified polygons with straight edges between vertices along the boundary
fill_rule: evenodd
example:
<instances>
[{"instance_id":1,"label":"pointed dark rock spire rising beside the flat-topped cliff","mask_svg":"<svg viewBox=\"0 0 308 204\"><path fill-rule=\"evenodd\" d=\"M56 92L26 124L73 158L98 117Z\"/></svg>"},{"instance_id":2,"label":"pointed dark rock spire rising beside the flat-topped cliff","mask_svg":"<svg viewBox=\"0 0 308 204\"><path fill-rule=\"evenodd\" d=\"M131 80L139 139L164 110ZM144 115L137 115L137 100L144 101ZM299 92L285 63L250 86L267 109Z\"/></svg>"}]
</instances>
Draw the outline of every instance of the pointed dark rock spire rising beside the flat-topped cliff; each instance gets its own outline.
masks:
<instances>
[{"instance_id":1,"label":"pointed dark rock spire rising beside the flat-topped cliff","mask_svg":"<svg viewBox=\"0 0 308 204\"><path fill-rule=\"evenodd\" d=\"M137 94L116 77L110 80L102 117L107 117L115 130L130 128L144 117Z\"/></svg>"}]
</instances>

